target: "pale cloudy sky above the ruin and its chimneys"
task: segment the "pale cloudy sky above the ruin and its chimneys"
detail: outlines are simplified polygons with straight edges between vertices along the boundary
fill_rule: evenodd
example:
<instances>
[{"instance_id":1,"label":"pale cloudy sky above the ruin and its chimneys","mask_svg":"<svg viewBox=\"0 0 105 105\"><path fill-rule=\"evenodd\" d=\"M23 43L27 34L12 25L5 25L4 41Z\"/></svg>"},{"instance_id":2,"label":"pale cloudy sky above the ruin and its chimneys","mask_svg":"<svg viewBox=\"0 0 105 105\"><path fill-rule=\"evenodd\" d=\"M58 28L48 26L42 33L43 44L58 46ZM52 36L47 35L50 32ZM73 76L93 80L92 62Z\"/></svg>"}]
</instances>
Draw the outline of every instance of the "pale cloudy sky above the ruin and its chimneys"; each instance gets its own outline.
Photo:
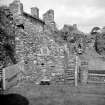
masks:
<instances>
[{"instance_id":1,"label":"pale cloudy sky above the ruin and its chimneys","mask_svg":"<svg viewBox=\"0 0 105 105\"><path fill-rule=\"evenodd\" d=\"M0 0L0 5L9 5L13 0ZM40 17L49 9L55 13L58 28L64 24L77 24L79 30L90 32L95 26L105 26L105 0L20 0L24 11L38 7Z\"/></svg>"}]
</instances>

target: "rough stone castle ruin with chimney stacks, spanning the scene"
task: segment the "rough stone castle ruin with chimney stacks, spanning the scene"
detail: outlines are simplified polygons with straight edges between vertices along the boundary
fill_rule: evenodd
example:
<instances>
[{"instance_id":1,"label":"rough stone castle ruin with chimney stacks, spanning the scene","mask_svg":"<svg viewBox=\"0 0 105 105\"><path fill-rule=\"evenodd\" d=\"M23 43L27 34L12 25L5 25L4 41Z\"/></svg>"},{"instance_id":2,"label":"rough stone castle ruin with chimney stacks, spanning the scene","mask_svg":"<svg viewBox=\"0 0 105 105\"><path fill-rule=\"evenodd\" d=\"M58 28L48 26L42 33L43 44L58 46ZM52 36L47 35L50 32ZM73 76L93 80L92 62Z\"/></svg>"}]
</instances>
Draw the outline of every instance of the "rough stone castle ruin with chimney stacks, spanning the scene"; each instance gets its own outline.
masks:
<instances>
[{"instance_id":1,"label":"rough stone castle ruin with chimney stacks, spanning the scene","mask_svg":"<svg viewBox=\"0 0 105 105\"><path fill-rule=\"evenodd\" d=\"M15 25L12 33L14 54L11 56L16 62L14 64L9 56L10 64L5 68L7 75L13 70L19 73L19 81L28 79L36 84L41 81L50 81L52 84L75 84L81 81L86 84L88 71L98 69L95 63L103 70L105 62L95 52L92 43L87 43L86 35L78 30L76 24L57 29L54 10L48 10L40 19L37 7L32 7L31 14L28 14L19 0L13 1L8 10ZM14 67L16 70L12 69ZM12 75L11 72L6 78ZM101 79L104 82L105 77Z\"/></svg>"}]
</instances>

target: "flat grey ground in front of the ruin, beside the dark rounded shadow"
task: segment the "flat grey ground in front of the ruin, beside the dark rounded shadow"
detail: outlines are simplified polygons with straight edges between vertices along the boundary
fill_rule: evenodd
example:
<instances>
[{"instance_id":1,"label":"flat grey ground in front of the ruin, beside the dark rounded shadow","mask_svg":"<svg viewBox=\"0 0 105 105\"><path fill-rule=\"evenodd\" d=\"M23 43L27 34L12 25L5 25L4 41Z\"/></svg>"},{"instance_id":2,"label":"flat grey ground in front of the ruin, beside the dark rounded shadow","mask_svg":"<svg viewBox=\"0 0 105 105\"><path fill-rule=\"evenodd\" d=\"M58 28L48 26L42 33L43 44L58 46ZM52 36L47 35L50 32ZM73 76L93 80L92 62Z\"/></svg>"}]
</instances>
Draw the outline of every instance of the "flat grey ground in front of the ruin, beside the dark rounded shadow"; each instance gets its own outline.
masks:
<instances>
[{"instance_id":1,"label":"flat grey ground in front of the ruin, beside the dark rounded shadow","mask_svg":"<svg viewBox=\"0 0 105 105\"><path fill-rule=\"evenodd\" d=\"M21 84L9 90L28 98L30 105L105 105L105 86L39 86Z\"/></svg>"}]
</instances>

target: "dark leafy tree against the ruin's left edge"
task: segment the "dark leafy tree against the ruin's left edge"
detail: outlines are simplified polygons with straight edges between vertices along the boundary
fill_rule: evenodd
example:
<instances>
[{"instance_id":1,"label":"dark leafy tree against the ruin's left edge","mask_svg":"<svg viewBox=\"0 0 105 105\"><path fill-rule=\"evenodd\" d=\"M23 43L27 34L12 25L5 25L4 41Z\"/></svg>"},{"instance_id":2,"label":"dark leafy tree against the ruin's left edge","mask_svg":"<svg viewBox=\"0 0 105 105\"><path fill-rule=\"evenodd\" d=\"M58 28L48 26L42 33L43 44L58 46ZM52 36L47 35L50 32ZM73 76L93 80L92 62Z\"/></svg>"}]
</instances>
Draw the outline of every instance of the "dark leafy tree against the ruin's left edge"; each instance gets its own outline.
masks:
<instances>
[{"instance_id":1,"label":"dark leafy tree against the ruin's left edge","mask_svg":"<svg viewBox=\"0 0 105 105\"><path fill-rule=\"evenodd\" d=\"M15 23L7 7L0 7L0 65L15 64Z\"/></svg>"}]
</instances>

